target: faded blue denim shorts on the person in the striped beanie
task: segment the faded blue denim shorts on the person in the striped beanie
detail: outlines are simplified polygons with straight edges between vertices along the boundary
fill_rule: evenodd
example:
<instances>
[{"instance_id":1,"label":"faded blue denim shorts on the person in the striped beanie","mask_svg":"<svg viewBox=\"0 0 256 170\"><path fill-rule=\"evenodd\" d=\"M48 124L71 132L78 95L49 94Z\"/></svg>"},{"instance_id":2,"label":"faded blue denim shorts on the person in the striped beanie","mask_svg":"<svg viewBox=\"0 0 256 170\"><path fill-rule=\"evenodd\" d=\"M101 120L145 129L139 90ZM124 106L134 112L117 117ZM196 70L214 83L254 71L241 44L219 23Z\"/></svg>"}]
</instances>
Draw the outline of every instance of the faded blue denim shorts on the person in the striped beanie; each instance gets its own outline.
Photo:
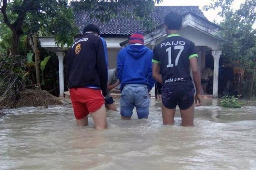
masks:
<instances>
[{"instance_id":1,"label":"faded blue denim shorts on the person in the striped beanie","mask_svg":"<svg viewBox=\"0 0 256 170\"><path fill-rule=\"evenodd\" d=\"M127 84L124 86L120 99L121 115L131 117L134 106L139 119L149 115L150 98L147 85Z\"/></svg>"}]
</instances>

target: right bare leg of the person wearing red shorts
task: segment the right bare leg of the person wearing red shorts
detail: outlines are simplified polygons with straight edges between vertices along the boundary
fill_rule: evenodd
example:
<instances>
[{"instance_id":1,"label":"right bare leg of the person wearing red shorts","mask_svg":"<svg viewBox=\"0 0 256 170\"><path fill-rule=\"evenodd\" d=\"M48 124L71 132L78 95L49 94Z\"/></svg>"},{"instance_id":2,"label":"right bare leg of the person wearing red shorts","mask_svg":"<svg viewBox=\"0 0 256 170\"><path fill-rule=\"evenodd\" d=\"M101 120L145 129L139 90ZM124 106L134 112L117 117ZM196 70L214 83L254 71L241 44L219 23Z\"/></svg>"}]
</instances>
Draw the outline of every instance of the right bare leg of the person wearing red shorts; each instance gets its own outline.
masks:
<instances>
[{"instance_id":1,"label":"right bare leg of the person wearing red shorts","mask_svg":"<svg viewBox=\"0 0 256 170\"><path fill-rule=\"evenodd\" d=\"M105 104L103 104L98 111L91 113L91 117L93 117L94 126L96 129L108 128L108 124L106 122Z\"/></svg>"}]
</instances>

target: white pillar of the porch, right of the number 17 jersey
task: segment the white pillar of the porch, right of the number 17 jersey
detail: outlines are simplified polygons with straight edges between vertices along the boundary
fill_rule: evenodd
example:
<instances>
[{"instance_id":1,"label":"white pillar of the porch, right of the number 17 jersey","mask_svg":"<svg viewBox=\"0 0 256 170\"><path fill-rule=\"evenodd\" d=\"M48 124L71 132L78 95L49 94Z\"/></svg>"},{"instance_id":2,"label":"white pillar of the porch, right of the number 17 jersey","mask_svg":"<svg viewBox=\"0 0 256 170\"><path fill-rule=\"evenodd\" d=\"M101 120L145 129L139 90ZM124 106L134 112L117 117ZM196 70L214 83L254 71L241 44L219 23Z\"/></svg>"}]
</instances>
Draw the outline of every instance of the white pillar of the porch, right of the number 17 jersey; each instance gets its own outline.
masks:
<instances>
[{"instance_id":1,"label":"white pillar of the porch, right of the number 17 jersey","mask_svg":"<svg viewBox=\"0 0 256 170\"><path fill-rule=\"evenodd\" d=\"M218 80L219 80L219 58L221 57L221 50L212 51L214 58L214 70L213 70L213 97L218 97Z\"/></svg>"}]
</instances>

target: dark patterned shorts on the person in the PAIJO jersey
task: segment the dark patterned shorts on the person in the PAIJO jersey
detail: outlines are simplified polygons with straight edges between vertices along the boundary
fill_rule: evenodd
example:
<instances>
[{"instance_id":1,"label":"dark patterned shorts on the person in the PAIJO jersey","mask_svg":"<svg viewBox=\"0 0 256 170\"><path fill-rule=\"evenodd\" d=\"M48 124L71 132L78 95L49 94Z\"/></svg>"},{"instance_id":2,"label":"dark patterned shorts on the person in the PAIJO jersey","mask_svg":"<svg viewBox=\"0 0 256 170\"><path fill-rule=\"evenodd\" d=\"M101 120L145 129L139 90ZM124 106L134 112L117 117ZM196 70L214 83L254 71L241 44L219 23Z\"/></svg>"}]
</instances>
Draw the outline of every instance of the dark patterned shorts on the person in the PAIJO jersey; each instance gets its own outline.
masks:
<instances>
[{"instance_id":1,"label":"dark patterned shorts on the person in the PAIJO jersey","mask_svg":"<svg viewBox=\"0 0 256 170\"><path fill-rule=\"evenodd\" d=\"M166 108L174 109L178 104L186 110L194 103L194 85L169 85L162 87L162 102Z\"/></svg>"}]
</instances>

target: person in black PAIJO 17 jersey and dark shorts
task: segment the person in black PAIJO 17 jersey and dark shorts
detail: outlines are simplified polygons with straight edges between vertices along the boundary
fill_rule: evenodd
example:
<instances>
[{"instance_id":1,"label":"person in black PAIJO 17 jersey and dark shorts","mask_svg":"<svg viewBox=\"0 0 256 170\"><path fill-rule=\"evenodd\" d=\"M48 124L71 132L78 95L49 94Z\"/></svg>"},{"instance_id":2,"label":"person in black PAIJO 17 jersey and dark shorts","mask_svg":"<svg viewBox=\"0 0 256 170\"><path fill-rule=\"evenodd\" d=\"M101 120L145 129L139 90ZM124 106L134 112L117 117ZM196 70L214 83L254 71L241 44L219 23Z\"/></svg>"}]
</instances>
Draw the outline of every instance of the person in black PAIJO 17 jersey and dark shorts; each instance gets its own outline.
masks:
<instances>
[{"instance_id":1,"label":"person in black PAIJO 17 jersey and dark shorts","mask_svg":"<svg viewBox=\"0 0 256 170\"><path fill-rule=\"evenodd\" d=\"M193 126L195 104L201 104L200 71L197 64L195 44L177 32L182 27L182 16L170 12L165 17L167 38L154 48L153 77L162 84L163 124L173 124L175 108L180 107L182 126ZM192 68L193 81L190 77ZM194 100L195 99L195 100Z\"/></svg>"}]
</instances>

